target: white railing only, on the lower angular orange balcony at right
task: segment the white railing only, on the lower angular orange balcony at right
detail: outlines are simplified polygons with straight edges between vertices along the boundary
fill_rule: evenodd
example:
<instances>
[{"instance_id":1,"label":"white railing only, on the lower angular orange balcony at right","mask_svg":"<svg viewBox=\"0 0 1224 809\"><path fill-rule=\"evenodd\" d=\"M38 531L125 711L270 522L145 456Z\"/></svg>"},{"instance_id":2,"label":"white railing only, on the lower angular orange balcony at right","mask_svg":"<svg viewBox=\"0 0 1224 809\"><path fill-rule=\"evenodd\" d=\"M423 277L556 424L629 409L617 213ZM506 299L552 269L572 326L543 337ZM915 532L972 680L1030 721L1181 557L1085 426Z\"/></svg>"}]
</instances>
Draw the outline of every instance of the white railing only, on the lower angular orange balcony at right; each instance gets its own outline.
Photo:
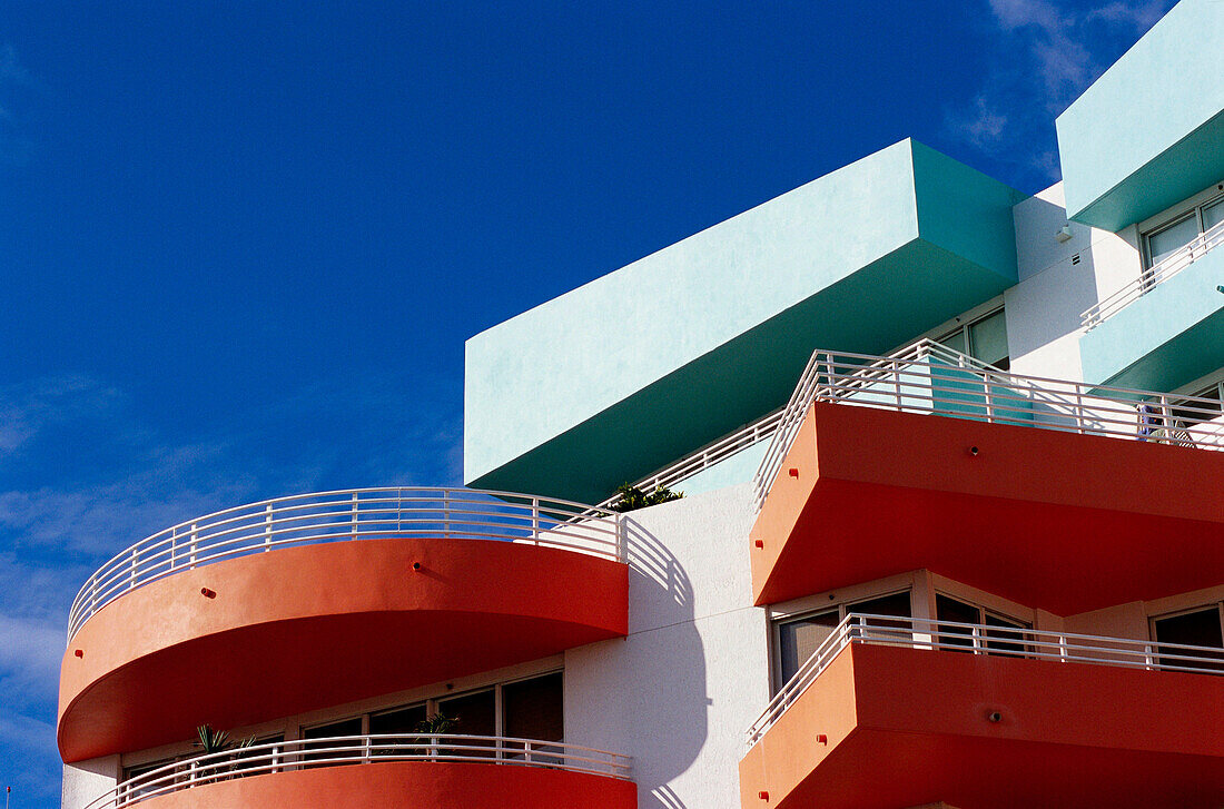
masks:
<instances>
[{"instance_id":1,"label":"white railing only, on the lower angular orange balcony at right","mask_svg":"<svg viewBox=\"0 0 1224 809\"><path fill-rule=\"evenodd\" d=\"M849 613L799 666L748 728L748 747L756 744L791 705L851 644L884 644L930 651L972 652L1006 657L1092 663L1147 671L1224 674L1224 649L1154 640L1080 635L1020 627L967 624L930 618L895 618Z\"/></svg>"}]
</instances>

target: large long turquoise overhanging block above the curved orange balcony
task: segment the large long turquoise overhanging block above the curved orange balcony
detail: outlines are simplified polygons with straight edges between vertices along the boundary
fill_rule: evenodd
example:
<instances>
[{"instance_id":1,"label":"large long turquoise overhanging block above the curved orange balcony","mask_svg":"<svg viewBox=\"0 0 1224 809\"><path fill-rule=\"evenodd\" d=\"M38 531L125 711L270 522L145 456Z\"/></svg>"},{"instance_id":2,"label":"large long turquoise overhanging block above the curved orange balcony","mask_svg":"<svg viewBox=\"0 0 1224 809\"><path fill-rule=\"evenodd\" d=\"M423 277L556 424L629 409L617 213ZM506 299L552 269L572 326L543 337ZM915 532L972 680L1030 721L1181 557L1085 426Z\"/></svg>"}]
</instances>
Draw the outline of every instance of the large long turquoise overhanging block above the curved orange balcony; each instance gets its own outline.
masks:
<instances>
[{"instance_id":1,"label":"large long turquoise overhanging block above the curved orange balcony","mask_svg":"<svg viewBox=\"0 0 1224 809\"><path fill-rule=\"evenodd\" d=\"M902 141L477 334L465 481L602 501L1013 285L1021 198Z\"/></svg>"}]
</instances>

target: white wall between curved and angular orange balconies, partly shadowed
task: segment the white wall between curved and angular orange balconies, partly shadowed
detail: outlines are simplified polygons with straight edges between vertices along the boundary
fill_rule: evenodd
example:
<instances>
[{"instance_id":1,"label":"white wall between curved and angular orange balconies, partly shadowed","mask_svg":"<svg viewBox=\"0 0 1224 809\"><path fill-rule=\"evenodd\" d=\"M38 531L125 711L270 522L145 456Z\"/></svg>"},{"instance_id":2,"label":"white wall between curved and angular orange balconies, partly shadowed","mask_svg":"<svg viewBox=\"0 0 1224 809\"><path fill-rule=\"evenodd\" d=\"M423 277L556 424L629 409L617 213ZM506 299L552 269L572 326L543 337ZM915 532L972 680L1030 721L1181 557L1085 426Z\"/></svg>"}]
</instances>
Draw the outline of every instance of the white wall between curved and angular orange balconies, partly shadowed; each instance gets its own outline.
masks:
<instances>
[{"instance_id":1,"label":"white wall between curved and angular orange balconies, partly shadowed","mask_svg":"<svg viewBox=\"0 0 1224 809\"><path fill-rule=\"evenodd\" d=\"M769 701L752 485L632 516L629 636L565 654L565 739L634 756L641 809L738 807L744 729Z\"/></svg>"}]
</instances>

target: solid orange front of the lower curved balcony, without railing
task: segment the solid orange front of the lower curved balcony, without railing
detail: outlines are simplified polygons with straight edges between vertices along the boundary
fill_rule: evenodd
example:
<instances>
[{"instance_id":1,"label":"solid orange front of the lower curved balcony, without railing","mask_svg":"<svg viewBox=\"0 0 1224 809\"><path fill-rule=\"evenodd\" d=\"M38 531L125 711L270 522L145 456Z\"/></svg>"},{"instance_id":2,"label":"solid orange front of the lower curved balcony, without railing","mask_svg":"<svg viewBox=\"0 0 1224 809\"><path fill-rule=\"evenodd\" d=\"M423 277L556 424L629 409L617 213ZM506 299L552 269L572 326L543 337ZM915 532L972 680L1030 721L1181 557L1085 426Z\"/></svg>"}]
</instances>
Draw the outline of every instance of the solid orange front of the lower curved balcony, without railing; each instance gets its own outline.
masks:
<instances>
[{"instance_id":1,"label":"solid orange front of the lower curved balcony, without railing","mask_svg":"<svg viewBox=\"0 0 1224 809\"><path fill-rule=\"evenodd\" d=\"M636 787L585 772L447 761L293 770L182 789L147 809L633 809Z\"/></svg>"}]
</instances>

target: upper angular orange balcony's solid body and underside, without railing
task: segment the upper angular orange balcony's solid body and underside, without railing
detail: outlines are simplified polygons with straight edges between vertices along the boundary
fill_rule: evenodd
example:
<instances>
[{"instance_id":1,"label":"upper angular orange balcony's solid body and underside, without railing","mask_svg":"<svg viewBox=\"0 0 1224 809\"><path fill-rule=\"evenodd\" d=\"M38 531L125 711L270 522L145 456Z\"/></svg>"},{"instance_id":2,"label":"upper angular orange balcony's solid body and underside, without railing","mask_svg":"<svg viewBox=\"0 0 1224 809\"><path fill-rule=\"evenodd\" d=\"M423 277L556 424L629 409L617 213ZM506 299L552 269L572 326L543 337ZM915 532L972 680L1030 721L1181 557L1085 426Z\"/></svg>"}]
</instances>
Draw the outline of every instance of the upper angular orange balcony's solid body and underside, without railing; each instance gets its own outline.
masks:
<instances>
[{"instance_id":1,"label":"upper angular orange balcony's solid body and underside, without railing","mask_svg":"<svg viewBox=\"0 0 1224 809\"><path fill-rule=\"evenodd\" d=\"M1214 586L1222 482L1218 452L818 403L753 528L754 594L927 568L1073 614Z\"/></svg>"}]
</instances>

